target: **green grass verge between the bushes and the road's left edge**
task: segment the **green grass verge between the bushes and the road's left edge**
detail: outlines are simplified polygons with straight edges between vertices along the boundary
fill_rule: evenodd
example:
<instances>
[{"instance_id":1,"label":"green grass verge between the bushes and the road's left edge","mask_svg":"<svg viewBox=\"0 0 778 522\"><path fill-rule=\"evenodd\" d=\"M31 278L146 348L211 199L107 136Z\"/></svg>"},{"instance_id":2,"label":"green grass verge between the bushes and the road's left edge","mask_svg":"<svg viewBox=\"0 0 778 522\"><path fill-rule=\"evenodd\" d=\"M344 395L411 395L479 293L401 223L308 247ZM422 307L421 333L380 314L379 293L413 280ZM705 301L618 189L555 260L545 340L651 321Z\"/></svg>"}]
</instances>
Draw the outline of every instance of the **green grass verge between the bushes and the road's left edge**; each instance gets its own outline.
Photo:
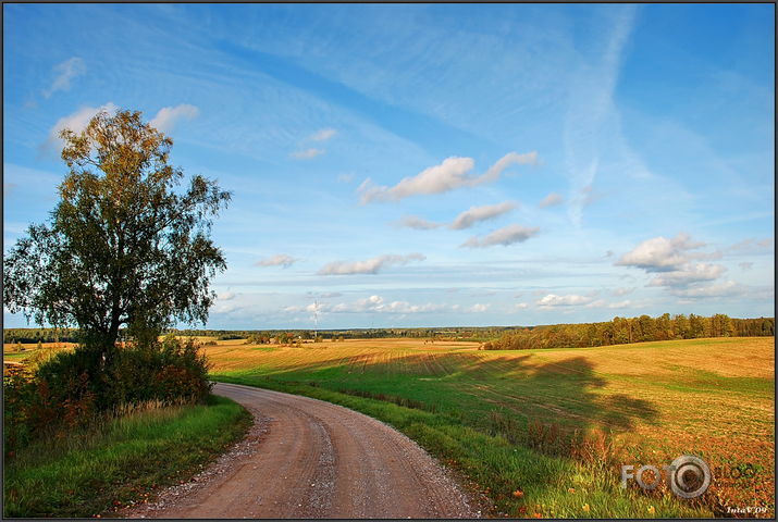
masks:
<instances>
[{"instance_id":1,"label":"green grass verge between the bushes and the road's left edge","mask_svg":"<svg viewBox=\"0 0 778 522\"><path fill-rule=\"evenodd\" d=\"M236 402L169 407L111 421L100 433L35 444L4 470L4 517L92 517L188 480L251 423Z\"/></svg>"}]
</instances>

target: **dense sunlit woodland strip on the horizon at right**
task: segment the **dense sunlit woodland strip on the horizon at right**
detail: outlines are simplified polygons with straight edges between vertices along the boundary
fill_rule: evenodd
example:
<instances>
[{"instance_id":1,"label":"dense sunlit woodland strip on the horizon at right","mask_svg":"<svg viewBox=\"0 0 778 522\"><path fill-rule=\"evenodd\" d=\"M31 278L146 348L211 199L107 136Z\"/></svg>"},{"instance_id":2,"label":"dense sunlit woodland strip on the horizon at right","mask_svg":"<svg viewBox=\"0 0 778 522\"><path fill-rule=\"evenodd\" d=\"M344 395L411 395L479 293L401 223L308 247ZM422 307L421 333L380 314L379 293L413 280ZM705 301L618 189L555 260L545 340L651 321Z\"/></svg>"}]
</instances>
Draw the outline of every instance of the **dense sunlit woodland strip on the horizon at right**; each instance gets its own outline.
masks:
<instances>
[{"instance_id":1,"label":"dense sunlit woodland strip on the horizon at right","mask_svg":"<svg viewBox=\"0 0 778 522\"><path fill-rule=\"evenodd\" d=\"M731 319L723 313L703 318L669 313L651 318L614 318L607 323L554 324L505 333L483 345L484 350L526 350L623 345L649 340L699 337L752 337L775 335L775 319Z\"/></svg>"}]
</instances>

